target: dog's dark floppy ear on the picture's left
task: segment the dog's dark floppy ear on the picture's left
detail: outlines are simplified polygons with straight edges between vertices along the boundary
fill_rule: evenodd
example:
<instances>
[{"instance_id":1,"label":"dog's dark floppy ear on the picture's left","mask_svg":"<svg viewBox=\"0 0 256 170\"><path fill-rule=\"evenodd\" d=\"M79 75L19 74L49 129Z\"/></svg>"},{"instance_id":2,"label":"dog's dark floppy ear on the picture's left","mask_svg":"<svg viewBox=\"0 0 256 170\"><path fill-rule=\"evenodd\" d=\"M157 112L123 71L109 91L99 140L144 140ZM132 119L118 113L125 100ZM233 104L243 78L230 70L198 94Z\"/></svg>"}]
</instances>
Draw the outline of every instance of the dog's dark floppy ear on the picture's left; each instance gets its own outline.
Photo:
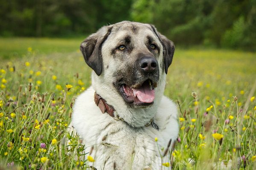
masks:
<instances>
[{"instance_id":1,"label":"dog's dark floppy ear on the picture's left","mask_svg":"<svg viewBox=\"0 0 256 170\"><path fill-rule=\"evenodd\" d=\"M85 62L100 76L103 68L101 47L103 42L111 33L112 27L103 27L94 34L91 34L80 45L80 50L84 56Z\"/></svg>"}]
</instances>

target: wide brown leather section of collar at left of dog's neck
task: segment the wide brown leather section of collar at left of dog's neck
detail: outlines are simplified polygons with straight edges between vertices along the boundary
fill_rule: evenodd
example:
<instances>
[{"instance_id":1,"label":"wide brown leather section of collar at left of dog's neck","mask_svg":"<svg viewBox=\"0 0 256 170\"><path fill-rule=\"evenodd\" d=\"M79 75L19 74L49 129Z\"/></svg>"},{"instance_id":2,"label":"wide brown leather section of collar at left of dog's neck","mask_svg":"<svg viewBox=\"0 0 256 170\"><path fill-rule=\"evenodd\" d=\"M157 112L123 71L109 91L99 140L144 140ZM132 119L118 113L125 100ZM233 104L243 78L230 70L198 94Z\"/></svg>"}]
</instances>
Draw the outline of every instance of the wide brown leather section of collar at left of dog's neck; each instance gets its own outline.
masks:
<instances>
[{"instance_id":1,"label":"wide brown leather section of collar at left of dog's neck","mask_svg":"<svg viewBox=\"0 0 256 170\"><path fill-rule=\"evenodd\" d=\"M108 105L106 100L103 99L100 95L94 93L94 102L95 104L100 108L100 111L102 113L108 113L109 116L115 117L114 111L115 109L113 108L112 105Z\"/></svg>"}]
</instances>

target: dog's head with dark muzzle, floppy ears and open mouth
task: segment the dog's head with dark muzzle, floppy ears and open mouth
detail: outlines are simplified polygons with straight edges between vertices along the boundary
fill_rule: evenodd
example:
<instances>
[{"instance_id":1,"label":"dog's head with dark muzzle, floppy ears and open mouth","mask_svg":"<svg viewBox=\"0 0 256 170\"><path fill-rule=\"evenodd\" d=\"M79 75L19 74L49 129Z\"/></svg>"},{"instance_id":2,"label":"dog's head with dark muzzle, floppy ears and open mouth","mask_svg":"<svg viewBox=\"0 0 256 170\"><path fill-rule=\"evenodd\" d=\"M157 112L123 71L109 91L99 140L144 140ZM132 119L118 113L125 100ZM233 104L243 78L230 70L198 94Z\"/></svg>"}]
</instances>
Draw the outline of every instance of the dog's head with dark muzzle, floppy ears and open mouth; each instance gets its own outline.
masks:
<instances>
[{"instance_id":1,"label":"dog's head with dark muzzle, floppy ears and open mouth","mask_svg":"<svg viewBox=\"0 0 256 170\"><path fill-rule=\"evenodd\" d=\"M129 107L145 107L153 104L165 81L174 44L152 25L124 21L101 28L80 50L102 88L114 91Z\"/></svg>"}]
</instances>

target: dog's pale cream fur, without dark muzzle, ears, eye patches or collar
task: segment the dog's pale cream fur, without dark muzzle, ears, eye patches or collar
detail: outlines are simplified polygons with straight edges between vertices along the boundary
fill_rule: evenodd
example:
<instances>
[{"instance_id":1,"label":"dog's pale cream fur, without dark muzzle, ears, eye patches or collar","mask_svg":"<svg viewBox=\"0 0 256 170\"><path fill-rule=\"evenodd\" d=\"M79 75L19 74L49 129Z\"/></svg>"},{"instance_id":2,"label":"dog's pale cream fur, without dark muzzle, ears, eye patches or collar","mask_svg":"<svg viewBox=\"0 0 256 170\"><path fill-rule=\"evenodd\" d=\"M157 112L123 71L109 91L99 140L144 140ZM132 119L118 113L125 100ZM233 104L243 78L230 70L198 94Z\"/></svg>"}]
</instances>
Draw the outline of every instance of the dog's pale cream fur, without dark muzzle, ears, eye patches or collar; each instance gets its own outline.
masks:
<instances>
[{"instance_id":1,"label":"dog's pale cream fur, without dark muzzle, ears, eye patches or collar","mask_svg":"<svg viewBox=\"0 0 256 170\"><path fill-rule=\"evenodd\" d=\"M124 62L111 56L111 49L115 47L118 36L130 34L124 27L119 30L119 34L110 34L103 43L101 50L102 73L98 76L94 71L92 72L92 86L77 97L74 105L70 130L73 130L72 127L74 127L83 139L83 144L86 147L85 153L90 152L91 146L94 146L91 156L94 157L95 162L88 162L88 165L96 167L97 170L113 170L114 164L115 170L160 170L162 163L170 161L168 154L161 159L160 154L163 155L161 148L166 149L170 139L172 146L177 139L179 131L177 106L163 96L166 77L163 68L163 47L158 37L150 30L149 25L135 24L141 29L138 32L140 36L133 36L132 39L136 50L128 57L131 60L127 58ZM106 34L106 29L106 27L101 28L97 34L93 34L91 37L97 35L103 37ZM155 99L152 105L131 107L113 86L115 80L113 73L117 71L117 68L120 70L127 64L133 64L132 62L136 60L134 57L138 52L144 50L149 53L144 44L147 41L147 35L151 35L160 47L160 55L157 58L159 81L155 88ZM94 102L95 91L115 108L114 114L123 120L115 120L109 114L101 113L100 108ZM159 130L152 125L145 126L152 118L155 118ZM155 142L156 137L158 142ZM157 145L159 145L160 153ZM167 169L171 169L171 167Z\"/></svg>"}]
</instances>

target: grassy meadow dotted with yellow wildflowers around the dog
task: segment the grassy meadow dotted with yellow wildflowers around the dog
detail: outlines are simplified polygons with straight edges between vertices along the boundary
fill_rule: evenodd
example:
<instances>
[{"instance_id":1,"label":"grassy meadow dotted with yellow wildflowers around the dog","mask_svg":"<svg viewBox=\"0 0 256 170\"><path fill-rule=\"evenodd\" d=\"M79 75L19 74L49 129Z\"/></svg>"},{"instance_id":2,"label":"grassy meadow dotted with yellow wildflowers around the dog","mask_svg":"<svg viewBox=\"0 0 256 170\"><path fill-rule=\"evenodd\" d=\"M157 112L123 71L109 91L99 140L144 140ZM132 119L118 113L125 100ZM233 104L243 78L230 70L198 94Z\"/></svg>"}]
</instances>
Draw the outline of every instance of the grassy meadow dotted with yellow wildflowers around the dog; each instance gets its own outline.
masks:
<instances>
[{"instance_id":1,"label":"grassy meadow dotted with yellow wildflowers around the dog","mask_svg":"<svg viewBox=\"0 0 256 170\"><path fill-rule=\"evenodd\" d=\"M81 41L0 39L0 169L91 169L78 136L59 148L91 84ZM179 110L174 170L256 169L256 53L177 47L165 95Z\"/></svg>"}]
</instances>

